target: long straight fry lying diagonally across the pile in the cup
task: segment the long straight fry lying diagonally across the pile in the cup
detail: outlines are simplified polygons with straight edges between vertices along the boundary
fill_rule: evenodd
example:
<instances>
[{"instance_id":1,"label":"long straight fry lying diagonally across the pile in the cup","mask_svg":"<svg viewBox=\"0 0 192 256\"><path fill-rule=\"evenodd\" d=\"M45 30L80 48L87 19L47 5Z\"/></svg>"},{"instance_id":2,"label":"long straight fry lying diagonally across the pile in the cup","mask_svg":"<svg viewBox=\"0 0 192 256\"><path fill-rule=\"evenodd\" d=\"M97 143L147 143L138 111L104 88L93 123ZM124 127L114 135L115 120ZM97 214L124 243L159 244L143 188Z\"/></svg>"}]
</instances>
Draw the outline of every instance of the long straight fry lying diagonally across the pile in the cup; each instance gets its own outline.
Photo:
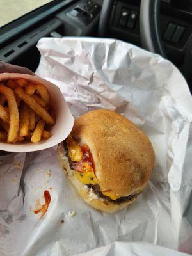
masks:
<instances>
[{"instance_id":1,"label":"long straight fry lying diagonally across the pile in the cup","mask_svg":"<svg viewBox=\"0 0 192 256\"><path fill-rule=\"evenodd\" d=\"M30 95L26 94L24 90L21 87L17 87L15 89L15 93L18 97L20 97L21 100L26 102L26 104L29 106L29 108L33 109L35 113L40 116L47 124L54 124L54 118L52 118L49 113L38 104L33 97Z\"/></svg>"}]
</instances>

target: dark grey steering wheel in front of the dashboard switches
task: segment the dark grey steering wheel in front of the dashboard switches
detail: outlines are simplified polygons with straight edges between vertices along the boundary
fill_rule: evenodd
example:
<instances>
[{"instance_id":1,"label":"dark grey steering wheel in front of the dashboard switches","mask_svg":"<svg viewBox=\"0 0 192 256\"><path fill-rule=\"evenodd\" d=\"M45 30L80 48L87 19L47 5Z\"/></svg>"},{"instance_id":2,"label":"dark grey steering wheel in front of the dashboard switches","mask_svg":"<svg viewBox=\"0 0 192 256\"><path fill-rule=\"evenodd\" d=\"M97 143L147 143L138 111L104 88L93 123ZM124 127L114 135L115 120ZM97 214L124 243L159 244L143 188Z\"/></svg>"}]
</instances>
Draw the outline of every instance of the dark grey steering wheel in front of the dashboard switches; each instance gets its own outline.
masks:
<instances>
[{"instance_id":1,"label":"dark grey steering wheel in front of the dashboard switches","mask_svg":"<svg viewBox=\"0 0 192 256\"><path fill-rule=\"evenodd\" d=\"M166 58L159 27L161 0L141 0L140 36L142 47ZM99 36L104 37L108 29L109 18L114 0L104 0L99 20Z\"/></svg>"}]
</instances>

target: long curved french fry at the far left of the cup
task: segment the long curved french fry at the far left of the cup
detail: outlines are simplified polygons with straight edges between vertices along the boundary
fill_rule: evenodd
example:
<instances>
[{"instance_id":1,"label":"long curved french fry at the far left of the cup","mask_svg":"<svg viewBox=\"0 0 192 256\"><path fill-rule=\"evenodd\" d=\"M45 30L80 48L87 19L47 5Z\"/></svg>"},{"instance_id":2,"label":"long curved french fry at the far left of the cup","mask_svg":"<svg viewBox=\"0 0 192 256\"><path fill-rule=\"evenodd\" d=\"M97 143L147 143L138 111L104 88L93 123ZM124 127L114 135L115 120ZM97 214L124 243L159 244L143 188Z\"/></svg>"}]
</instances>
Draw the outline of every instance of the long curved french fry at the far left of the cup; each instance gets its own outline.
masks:
<instances>
[{"instance_id":1,"label":"long curved french fry at the far left of the cup","mask_svg":"<svg viewBox=\"0 0 192 256\"><path fill-rule=\"evenodd\" d=\"M17 108L17 102L12 89L0 84L0 92L3 93L8 101L8 107L10 109L10 128L8 131L8 142L13 142L17 138L19 131L19 111Z\"/></svg>"}]
</instances>

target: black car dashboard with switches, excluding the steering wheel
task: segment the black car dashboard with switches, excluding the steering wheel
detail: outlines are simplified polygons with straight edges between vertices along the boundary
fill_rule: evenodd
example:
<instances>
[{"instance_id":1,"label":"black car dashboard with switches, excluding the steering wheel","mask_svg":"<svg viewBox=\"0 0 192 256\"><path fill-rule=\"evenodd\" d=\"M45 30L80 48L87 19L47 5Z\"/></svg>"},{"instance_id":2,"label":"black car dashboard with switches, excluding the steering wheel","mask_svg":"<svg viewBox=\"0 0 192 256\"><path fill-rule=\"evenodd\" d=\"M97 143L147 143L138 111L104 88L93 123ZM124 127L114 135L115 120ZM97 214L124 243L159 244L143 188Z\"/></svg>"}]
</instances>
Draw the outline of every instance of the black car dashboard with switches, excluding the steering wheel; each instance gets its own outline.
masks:
<instances>
[{"instance_id":1,"label":"black car dashboard with switches, excluding the steering wheel","mask_svg":"<svg viewBox=\"0 0 192 256\"><path fill-rule=\"evenodd\" d=\"M36 49L42 37L98 36L102 0L55 0L0 28L0 60L35 71L40 60ZM141 45L140 0L113 1L108 38ZM192 83L192 1L162 0L160 26L164 49Z\"/></svg>"}]
</instances>

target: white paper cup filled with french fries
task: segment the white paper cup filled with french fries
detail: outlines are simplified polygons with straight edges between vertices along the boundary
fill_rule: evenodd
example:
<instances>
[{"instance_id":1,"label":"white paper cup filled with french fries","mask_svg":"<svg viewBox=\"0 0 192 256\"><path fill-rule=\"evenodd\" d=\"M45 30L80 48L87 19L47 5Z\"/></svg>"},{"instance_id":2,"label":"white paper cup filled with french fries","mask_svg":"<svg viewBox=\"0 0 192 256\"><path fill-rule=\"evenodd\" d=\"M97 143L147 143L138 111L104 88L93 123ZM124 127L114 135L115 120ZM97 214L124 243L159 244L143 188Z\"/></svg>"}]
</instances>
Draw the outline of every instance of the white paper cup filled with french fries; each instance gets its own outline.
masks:
<instances>
[{"instance_id":1,"label":"white paper cup filled with french fries","mask_svg":"<svg viewBox=\"0 0 192 256\"><path fill-rule=\"evenodd\" d=\"M0 150L43 150L70 134L74 118L56 85L38 76L4 73L0 90L6 99L0 104Z\"/></svg>"}]
</instances>

